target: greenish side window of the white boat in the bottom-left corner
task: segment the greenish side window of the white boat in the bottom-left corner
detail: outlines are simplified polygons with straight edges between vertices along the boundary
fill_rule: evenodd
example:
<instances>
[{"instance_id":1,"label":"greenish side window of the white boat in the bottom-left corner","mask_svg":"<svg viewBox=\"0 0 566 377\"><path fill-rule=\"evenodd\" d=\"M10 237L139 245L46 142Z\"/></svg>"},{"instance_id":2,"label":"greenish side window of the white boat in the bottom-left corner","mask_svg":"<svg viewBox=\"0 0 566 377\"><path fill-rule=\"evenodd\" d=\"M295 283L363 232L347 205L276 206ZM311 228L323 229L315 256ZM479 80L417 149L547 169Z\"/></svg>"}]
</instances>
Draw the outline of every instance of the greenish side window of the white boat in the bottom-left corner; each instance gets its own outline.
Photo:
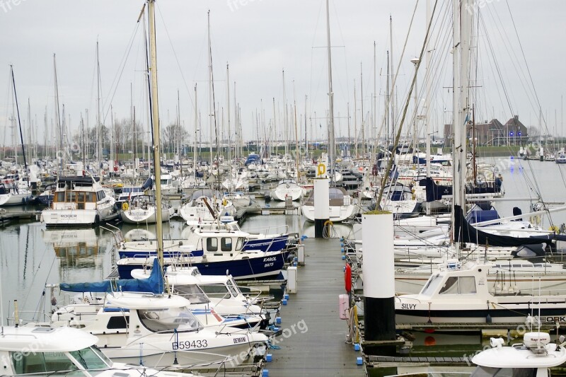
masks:
<instances>
[{"instance_id":1,"label":"greenish side window of the white boat in the bottom-left corner","mask_svg":"<svg viewBox=\"0 0 566 377\"><path fill-rule=\"evenodd\" d=\"M78 368L64 352L10 352L16 374L49 373L50 376L77 376ZM50 373L59 371L60 373ZM79 374L83 376L83 374Z\"/></svg>"}]
</instances>

